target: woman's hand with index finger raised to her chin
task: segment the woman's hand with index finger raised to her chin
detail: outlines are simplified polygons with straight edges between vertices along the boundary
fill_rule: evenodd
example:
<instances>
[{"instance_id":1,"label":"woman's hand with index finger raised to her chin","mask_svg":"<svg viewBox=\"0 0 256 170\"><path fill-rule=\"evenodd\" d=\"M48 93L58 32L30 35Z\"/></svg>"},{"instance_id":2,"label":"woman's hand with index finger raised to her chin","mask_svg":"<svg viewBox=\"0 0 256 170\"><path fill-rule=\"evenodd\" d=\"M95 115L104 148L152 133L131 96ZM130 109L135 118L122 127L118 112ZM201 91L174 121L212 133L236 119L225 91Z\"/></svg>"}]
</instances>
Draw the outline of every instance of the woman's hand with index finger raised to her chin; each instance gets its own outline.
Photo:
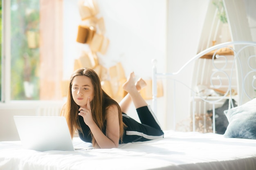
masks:
<instances>
[{"instance_id":1,"label":"woman's hand with index finger raised to her chin","mask_svg":"<svg viewBox=\"0 0 256 170\"><path fill-rule=\"evenodd\" d=\"M91 124L95 123L94 120L92 119L92 110L90 106L90 97L87 99L87 104L85 107L79 108L80 113L78 115L83 117L83 121L85 124L87 124L89 127Z\"/></svg>"}]
</instances>

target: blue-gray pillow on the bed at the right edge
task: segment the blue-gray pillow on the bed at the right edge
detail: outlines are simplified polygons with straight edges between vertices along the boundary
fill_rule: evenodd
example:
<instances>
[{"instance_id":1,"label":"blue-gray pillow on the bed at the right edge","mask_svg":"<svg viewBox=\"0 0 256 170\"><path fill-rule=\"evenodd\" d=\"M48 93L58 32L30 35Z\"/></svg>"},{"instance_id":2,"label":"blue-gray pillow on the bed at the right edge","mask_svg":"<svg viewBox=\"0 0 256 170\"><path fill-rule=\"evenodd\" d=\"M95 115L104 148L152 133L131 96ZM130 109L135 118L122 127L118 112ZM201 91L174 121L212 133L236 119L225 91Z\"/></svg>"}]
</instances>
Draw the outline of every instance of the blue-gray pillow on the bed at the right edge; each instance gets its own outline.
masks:
<instances>
[{"instance_id":1,"label":"blue-gray pillow on the bed at the right edge","mask_svg":"<svg viewBox=\"0 0 256 170\"><path fill-rule=\"evenodd\" d=\"M224 137L256 139L256 98L224 113L229 121Z\"/></svg>"}]
</instances>

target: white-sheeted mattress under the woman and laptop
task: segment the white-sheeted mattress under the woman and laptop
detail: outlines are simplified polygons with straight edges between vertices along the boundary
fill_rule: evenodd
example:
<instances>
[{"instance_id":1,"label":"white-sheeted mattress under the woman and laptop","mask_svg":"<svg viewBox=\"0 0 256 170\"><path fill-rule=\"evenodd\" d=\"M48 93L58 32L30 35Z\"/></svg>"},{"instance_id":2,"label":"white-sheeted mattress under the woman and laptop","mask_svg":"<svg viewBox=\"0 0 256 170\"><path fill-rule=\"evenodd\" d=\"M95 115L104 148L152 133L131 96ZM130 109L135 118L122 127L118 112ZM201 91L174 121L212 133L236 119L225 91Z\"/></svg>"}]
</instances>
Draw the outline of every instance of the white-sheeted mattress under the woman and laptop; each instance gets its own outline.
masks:
<instances>
[{"instance_id":1,"label":"white-sheeted mattress under the woman and laptop","mask_svg":"<svg viewBox=\"0 0 256 170\"><path fill-rule=\"evenodd\" d=\"M90 146L79 138L75 148ZM0 170L256 170L256 140L165 131L163 139L119 148L38 152L0 142Z\"/></svg>"}]
</instances>

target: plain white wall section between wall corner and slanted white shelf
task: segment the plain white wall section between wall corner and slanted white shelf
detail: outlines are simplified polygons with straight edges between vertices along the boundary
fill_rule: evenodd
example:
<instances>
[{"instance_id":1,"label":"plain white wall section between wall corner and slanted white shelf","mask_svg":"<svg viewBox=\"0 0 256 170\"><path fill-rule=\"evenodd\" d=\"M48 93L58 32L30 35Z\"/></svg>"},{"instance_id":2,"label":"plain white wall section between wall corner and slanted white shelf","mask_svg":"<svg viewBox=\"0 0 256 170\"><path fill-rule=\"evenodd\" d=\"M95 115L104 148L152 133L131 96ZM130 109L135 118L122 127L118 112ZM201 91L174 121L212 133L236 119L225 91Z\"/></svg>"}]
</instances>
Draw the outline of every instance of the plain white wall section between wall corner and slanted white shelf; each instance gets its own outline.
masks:
<instances>
[{"instance_id":1,"label":"plain white wall section between wall corner and slanted white shelf","mask_svg":"<svg viewBox=\"0 0 256 170\"><path fill-rule=\"evenodd\" d=\"M209 0L169 0L168 1L168 42L167 42L167 71L176 72L191 57L197 54L198 43L202 32L207 5ZM182 80L189 85L192 81L193 65L189 65L181 72L181 76L176 79ZM186 79L184 80L184 77ZM173 86L172 82L167 82L168 86ZM189 91L184 91L180 84L176 84L177 90L170 91L167 88L166 107L168 121L166 128L173 129L176 123L182 123L189 118ZM173 93L178 94L173 99ZM175 101L175 104L173 104ZM177 113L173 117L173 112ZM187 122L186 122L187 123Z\"/></svg>"}]
</instances>

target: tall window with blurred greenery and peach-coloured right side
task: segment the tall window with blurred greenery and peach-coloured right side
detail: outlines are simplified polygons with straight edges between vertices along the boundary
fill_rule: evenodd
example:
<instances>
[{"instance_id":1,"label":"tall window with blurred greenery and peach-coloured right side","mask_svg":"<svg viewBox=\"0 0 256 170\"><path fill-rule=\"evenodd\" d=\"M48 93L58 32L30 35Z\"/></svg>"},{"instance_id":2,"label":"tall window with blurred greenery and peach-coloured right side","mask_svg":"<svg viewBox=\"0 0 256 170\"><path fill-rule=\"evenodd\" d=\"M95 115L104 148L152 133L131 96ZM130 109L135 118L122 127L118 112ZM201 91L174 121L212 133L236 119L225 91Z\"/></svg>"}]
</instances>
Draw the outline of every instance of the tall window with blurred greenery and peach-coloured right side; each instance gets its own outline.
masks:
<instances>
[{"instance_id":1,"label":"tall window with blurred greenery and peach-coloured right side","mask_svg":"<svg viewBox=\"0 0 256 170\"><path fill-rule=\"evenodd\" d=\"M62 99L62 8L62 0L3 1L1 101Z\"/></svg>"}]
</instances>

